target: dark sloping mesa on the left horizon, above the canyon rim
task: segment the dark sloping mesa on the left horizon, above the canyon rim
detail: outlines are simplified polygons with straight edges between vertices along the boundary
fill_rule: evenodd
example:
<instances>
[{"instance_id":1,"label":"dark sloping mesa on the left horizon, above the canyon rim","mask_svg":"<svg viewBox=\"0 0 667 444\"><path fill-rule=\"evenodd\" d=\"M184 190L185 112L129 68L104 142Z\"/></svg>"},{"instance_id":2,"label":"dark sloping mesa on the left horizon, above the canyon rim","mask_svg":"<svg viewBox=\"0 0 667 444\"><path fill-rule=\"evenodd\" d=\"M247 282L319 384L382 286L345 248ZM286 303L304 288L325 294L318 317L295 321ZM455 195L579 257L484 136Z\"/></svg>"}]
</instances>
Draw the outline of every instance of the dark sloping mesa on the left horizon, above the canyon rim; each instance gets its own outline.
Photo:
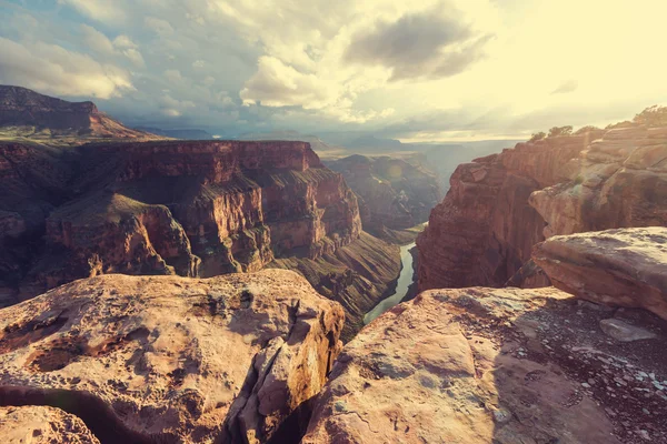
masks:
<instances>
[{"instance_id":1,"label":"dark sloping mesa on the left horizon, above the canyon rim","mask_svg":"<svg viewBox=\"0 0 667 444\"><path fill-rule=\"evenodd\" d=\"M160 139L132 130L92 102L68 102L21 87L0 85L0 134L43 138Z\"/></svg>"}]
</instances>

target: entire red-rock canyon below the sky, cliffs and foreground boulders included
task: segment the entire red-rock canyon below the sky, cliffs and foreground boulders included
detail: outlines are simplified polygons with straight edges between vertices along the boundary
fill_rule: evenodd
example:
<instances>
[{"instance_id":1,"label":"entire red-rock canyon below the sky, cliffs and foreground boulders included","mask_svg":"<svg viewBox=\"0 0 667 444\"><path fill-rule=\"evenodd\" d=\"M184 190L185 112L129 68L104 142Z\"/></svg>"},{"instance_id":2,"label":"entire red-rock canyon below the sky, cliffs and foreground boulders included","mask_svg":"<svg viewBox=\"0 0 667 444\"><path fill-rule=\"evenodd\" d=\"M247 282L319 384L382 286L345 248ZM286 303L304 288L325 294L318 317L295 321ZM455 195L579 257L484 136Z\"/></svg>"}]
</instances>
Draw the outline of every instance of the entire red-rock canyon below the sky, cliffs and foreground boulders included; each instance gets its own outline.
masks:
<instances>
[{"instance_id":1,"label":"entire red-rock canyon below the sky, cliffs and foreground boulders included","mask_svg":"<svg viewBox=\"0 0 667 444\"><path fill-rule=\"evenodd\" d=\"M11 98L39 131L0 142L9 443L667 443L664 124L459 165L414 252L417 164Z\"/></svg>"}]
</instances>

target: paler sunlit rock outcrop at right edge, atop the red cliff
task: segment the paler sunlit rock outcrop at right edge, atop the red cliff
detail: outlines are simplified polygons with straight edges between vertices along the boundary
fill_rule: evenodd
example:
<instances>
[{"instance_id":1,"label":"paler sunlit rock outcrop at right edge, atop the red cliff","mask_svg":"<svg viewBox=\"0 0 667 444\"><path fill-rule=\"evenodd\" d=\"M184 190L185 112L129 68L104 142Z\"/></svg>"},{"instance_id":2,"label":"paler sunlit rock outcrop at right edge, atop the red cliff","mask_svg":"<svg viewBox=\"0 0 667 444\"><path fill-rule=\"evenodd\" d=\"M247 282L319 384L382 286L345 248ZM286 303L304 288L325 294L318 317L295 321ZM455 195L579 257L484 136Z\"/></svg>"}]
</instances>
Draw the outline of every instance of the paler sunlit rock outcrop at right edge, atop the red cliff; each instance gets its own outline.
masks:
<instances>
[{"instance_id":1,"label":"paler sunlit rock outcrop at right edge, atop the red cliff","mask_svg":"<svg viewBox=\"0 0 667 444\"><path fill-rule=\"evenodd\" d=\"M545 236L667 225L667 128L609 130L564 170L568 181L530 196Z\"/></svg>"}]
</instances>

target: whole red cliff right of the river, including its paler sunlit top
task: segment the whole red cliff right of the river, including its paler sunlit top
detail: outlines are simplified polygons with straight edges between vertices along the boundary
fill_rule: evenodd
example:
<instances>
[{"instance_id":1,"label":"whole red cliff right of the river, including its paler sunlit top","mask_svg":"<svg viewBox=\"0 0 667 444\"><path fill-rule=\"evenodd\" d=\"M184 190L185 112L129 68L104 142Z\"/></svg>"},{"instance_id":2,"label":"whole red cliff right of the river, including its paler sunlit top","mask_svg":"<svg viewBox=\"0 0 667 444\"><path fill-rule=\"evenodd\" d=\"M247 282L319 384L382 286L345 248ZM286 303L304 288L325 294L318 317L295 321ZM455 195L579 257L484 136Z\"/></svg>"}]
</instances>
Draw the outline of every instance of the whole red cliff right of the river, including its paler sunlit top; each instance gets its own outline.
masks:
<instances>
[{"instance_id":1,"label":"whole red cliff right of the river, including its paler sunlit top","mask_svg":"<svg viewBox=\"0 0 667 444\"><path fill-rule=\"evenodd\" d=\"M545 235L667 224L665 158L665 129L635 127L519 143L460 165L418 239L419 287L501 286ZM520 281L548 283L528 270L539 272L528 263Z\"/></svg>"}]
</instances>

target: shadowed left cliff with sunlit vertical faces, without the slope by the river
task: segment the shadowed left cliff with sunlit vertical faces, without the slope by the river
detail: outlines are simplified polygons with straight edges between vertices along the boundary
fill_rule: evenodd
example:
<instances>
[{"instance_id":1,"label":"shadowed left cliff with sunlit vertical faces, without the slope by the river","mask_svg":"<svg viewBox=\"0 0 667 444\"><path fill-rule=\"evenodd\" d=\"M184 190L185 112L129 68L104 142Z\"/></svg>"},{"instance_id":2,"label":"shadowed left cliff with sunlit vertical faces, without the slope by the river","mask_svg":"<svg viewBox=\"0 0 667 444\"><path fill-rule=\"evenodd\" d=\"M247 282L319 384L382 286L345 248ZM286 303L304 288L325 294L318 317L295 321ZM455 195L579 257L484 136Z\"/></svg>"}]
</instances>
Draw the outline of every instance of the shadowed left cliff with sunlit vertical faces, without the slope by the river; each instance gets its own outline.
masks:
<instances>
[{"instance_id":1,"label":"shadowed left cliff with sunlit vertical faces, without the slope by the river","mask_svg":"<svg viewBox=\"0 0 667 444\"><path fill-rule=\"evenodd\" d=\"M3 180L17 193L34 189L28 180L41 169L28 160L46 149L2 150L18 159ZM48 159L69 175L53 195L38 186L44 211L33 224L46 245L24 273L41 289L106 273L257 271L275 258L331 254L361 232L354 193L302 142L89 144ZM0 206L6 236L34 206L17 211L16 198Z\"/></svg>"}]
</instances>

